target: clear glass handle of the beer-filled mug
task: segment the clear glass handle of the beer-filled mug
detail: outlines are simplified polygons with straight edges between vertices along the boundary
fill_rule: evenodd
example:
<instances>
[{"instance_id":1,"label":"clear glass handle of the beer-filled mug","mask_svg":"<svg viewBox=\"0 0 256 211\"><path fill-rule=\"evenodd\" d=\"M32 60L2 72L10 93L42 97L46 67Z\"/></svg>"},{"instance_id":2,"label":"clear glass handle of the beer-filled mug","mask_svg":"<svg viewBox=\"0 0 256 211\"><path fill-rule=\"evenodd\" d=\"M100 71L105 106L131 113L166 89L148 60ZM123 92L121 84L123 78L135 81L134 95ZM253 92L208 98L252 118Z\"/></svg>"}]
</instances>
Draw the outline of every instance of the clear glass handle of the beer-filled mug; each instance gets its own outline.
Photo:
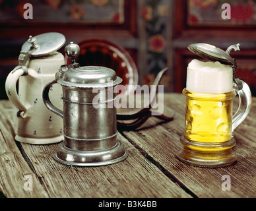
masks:
<instances>
[{"instance_id":1,"label":"clear glass handle of the beer-filled mug","mask_svg":"<svg viewBox=\"0 0 256 211\"><path fill-rule=\"evenodd\" d=\"M232 133L238 127L238 125L240 125L241 122L247 117L251 109L251 90L249 86L239 78L236 78L236 80L240 80L243 88L241 90L238 90L240 105L238 107L238 111L232 117Z\"/></svg>"}]
</instances>

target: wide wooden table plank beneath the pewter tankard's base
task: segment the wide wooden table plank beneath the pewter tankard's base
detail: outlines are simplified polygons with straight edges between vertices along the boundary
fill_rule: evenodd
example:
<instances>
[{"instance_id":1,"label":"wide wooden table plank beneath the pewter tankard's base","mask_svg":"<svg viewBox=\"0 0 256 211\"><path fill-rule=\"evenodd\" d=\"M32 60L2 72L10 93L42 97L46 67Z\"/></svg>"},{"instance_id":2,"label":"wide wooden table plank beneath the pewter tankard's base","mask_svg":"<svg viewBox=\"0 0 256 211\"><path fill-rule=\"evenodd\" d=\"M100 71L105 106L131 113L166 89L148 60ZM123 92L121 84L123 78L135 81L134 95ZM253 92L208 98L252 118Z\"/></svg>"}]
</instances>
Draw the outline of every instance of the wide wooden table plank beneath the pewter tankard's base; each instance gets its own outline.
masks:
<instances>
[{"instance_id":1,"label":"wide wooden table plank beneath the pewter tankard's base","mask_svg":"<svg viewBox=\"0 0 256 211\"><path fill-rule=\"evenodd\" d=\"M22 144L50 197L191 197L144 158L123 136L127 160L111 166L69 167L53 160L57 144Z\"/></svg>"}]
</instances>

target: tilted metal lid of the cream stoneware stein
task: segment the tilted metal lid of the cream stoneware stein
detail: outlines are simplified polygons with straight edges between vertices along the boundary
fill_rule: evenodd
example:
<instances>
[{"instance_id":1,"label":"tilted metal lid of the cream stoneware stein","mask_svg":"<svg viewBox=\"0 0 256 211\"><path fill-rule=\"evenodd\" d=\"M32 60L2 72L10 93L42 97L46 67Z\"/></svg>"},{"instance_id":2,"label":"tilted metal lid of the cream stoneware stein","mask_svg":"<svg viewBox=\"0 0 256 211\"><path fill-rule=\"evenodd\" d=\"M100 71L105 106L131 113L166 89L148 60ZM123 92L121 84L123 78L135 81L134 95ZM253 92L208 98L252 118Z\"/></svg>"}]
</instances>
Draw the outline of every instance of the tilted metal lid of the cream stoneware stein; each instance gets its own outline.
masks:
<instances>
[{"instance_id":1,"label":"tilted metal lid of the cream stoneware stein","mask_svg":"<svg viewBox=\"0 0 256 211\"><path fill-rule=\"evenodd\" d=\"M30 36L22 45L21 51L30 53L32 57L41 57L57 51L65 42L65 36L57 32L39 34Z\"/></svg>"}]
</instances>

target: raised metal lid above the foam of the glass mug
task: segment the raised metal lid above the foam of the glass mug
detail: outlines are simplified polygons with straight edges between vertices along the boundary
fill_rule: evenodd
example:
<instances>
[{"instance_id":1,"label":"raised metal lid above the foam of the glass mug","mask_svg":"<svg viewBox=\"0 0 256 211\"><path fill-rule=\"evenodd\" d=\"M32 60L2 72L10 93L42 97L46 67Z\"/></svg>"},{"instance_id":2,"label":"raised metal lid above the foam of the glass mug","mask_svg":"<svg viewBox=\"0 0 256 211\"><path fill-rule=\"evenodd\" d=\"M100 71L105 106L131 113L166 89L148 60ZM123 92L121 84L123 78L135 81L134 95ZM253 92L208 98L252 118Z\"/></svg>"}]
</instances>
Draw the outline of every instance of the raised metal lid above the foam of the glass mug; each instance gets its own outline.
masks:
<instances>
[{"instance_id":1,"label":"raised metal lid above the foam of the glass mug","mask_svg":"<svg viewBox=\"0 0 256 211\"><path fill-rule=\"evenodd\" d=\"M210 61L219 61L224 65L236 65L236 60L230 56L230 51L234 49L235 51L240 50L240 44L231 45L228 47L227 51L223 51L222 49L215 47L214 45L209 44L191 44L188 49L202 57L203 59L207 59Z\"/></svg>"}]
</instances>

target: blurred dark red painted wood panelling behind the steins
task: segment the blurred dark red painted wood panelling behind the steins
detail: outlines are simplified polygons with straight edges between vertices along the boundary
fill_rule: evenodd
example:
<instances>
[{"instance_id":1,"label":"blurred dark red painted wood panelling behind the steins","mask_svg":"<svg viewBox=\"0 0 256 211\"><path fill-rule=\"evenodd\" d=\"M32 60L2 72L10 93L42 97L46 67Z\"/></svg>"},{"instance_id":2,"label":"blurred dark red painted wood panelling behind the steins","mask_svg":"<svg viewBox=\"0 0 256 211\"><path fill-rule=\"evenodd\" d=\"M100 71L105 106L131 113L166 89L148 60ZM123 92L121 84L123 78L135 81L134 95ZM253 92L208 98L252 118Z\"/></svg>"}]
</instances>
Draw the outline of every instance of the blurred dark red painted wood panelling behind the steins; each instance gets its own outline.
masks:
<instances>
[{"instance_id":1,"label":"blurred dark red painted wood panelling behind the steins","mask_svg":"<svg viewBox=\"0 0 256 211\"><path fill-rule=\"evenodd\" d=\"M31 20L24 18L26 3L33 7ZM230 4L230 19L222 19L224 3ZM63 34L65 45L88 38L121 45L137 65L139 84L152 84L168 67L161 84L166 92L179 93L187 64L199 58L189 44L226 51L240 43L241 51L231 55L238 76L256 96L256 0L0 0L0 99L7 99L5 78L18 65L22 44L46 32Z\"/></svg>"}]
</instances>

